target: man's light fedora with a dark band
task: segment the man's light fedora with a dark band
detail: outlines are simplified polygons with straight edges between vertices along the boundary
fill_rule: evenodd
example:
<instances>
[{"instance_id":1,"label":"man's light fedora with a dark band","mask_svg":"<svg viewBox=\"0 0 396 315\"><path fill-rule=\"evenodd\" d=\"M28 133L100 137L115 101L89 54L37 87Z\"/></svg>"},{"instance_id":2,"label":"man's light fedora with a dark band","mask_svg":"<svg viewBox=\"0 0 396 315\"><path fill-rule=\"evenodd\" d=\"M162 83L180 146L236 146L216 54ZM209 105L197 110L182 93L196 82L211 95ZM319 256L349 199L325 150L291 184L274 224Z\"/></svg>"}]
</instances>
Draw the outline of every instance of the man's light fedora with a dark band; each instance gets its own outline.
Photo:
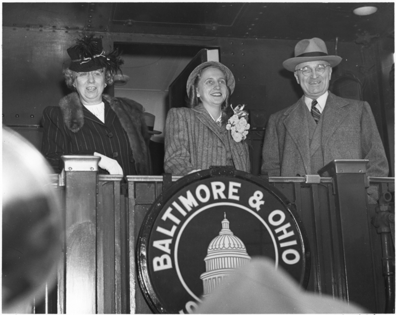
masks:
<instances>
[{"instance_id":1,"label":"man's light fedora with a dark band","mask_svg":"<svg viewBox=\"0 0 396 315\"><path fill-rule=\"evenodd\" d=\"M329 56L325 42L320 38L299 41L294 48L294 58L289 58L283 62L283 67L294 72L296 66L309 61L327 61L333 68L337 66L343 58L340 56Z\"/></svg>"}]
</instances>

